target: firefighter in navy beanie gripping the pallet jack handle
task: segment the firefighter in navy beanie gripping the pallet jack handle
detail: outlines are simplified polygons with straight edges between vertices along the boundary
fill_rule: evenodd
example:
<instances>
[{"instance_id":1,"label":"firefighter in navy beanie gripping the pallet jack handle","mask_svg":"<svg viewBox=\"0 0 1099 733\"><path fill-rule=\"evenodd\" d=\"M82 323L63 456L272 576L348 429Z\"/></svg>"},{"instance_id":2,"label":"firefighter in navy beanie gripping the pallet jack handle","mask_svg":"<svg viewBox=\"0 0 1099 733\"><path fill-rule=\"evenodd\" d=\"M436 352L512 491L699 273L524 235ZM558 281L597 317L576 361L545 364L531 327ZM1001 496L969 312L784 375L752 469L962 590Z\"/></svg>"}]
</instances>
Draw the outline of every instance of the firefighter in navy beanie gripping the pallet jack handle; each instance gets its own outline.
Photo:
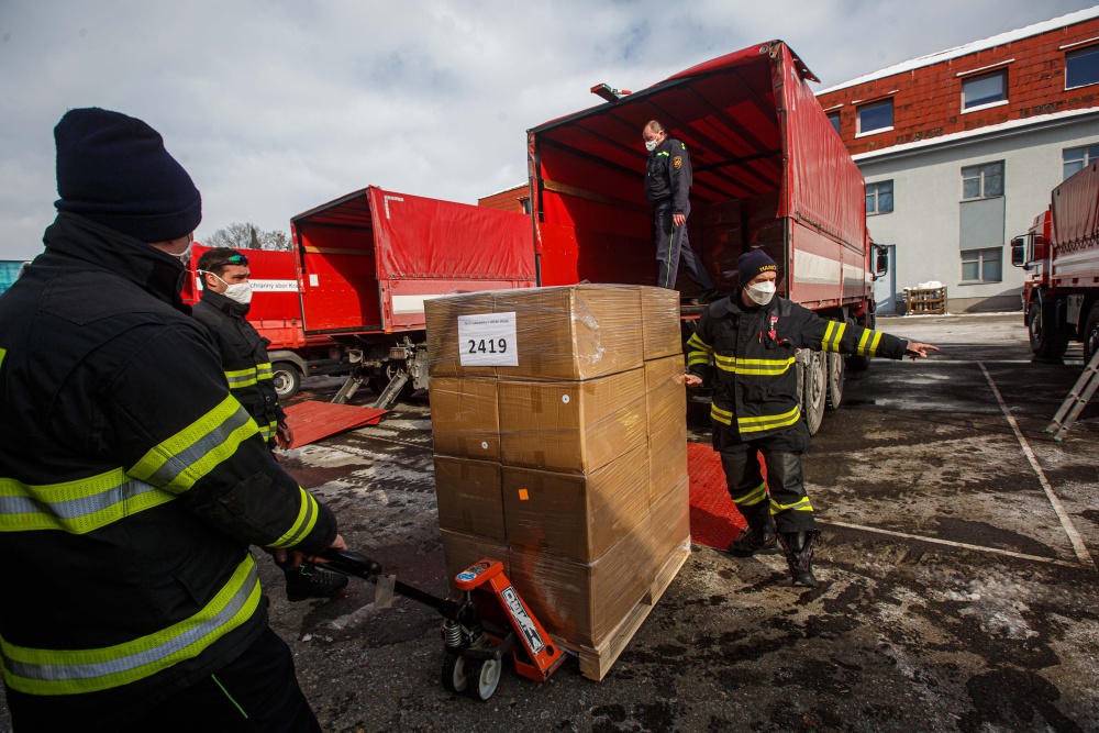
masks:
<instances>
[{"instance_id":1,"label":"firefighter in navy beanie gripping the pallet jack handle","mask_svg":"<svg viewBox=\"0 0 1099 733\"><path fill-rule=\"evenodd\" d=\"M16 731L319 731L249 545L345 547L179 292L201 219L141 120L65 114L57 219L0 298L0 659Z\"/></svg>"}]
</instances>

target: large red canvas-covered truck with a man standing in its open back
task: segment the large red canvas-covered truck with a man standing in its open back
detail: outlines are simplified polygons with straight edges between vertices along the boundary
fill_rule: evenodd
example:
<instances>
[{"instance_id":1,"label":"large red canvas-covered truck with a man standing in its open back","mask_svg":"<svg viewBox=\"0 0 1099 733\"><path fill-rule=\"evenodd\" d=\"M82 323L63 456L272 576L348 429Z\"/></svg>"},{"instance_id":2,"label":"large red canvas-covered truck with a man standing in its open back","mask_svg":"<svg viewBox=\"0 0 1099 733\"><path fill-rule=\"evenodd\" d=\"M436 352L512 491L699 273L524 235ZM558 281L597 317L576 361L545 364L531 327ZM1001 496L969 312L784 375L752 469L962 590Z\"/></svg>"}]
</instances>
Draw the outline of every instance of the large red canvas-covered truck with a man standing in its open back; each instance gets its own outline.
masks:
<instances>
[{"instance_id":1,"label":"large red canvas-covered truck with a man standing in its open back","mask_svg":"<svg viewBox=\"0 0 1099 733\"><path fill-rule=\"evenodd\" d=\"M866 230L863 176L809 88L817 80L774 41L530 130L539 285L655 281L641 132L658 119L690 151L690 242L719 291L734 287L724 274L735 274L736 258L759 247L784 265L780 295L873 327L872 281L886 259ZM680 286L686 296L695 287ZM701 309L684 311L697 319ZM835 354L799 355L812 432L825 406L840 404L844 365Z\"/></svg>"}]
</instances>

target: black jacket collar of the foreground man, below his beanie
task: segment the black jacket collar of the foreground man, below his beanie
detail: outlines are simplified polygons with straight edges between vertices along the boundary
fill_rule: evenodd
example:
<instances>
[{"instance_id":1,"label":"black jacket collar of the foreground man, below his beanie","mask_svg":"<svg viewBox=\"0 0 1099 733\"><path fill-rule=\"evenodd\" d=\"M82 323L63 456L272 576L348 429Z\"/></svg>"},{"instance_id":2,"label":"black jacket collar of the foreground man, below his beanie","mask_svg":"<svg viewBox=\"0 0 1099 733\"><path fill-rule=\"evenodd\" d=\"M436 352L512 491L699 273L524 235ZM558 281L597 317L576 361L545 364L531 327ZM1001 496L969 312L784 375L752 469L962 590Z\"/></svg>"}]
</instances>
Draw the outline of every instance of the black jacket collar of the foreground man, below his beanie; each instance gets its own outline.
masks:
<instances>
[{"instance_id":1,"label":"black jacket collar of the foreground man, below his beanie","mask_svg":"<svg viewBox=\"0 0 1099 733\"><path fill-rule=\"evenodd\" d=\"M46 251L81 260L136 284L176 310L190 313L180 291L186 269L178 258L78 214L59 212L42 237Z\"/></svg>"}]
</instances>

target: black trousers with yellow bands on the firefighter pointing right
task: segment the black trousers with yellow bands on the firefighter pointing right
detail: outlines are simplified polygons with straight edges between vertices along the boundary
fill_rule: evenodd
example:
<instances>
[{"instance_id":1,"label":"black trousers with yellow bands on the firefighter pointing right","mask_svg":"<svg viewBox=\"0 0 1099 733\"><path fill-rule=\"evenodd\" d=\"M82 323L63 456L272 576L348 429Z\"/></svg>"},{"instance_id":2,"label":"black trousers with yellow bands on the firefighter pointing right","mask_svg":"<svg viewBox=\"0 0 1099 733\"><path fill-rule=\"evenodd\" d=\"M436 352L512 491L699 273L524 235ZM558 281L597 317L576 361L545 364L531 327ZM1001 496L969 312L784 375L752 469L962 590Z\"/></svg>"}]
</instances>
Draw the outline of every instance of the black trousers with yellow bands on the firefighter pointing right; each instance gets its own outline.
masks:
<instances>
[{"instance_id":1,"label":"black trousers with yellow bands on the firefighter pointing right","mask_svg":"<svg viewBox=\"0 0 1099 733\"><path fill-rule=\"evenodd\" d=\"M758 530L775 517L779 532L817 529L806 493L801 454L809 448L809 427L799 420L765 437L742 437L735 429L713 426L713 449L721 454L729 496L748 526ZM759 454L767 464L767 480L759 470Z\"/></svg>"}]
</instances>

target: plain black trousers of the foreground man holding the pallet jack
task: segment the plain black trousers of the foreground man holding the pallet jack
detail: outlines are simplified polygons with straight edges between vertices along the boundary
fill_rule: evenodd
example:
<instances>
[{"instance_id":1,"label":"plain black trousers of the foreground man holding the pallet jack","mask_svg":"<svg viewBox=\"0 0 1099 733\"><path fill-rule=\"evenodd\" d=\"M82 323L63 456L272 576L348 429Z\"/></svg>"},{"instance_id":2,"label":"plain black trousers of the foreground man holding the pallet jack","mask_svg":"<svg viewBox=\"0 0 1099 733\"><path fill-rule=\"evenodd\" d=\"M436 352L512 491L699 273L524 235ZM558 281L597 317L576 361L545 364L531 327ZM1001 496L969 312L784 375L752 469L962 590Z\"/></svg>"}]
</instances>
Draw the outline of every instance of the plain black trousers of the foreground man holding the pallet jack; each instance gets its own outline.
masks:
<instances>
[{"instance_id":1,"label":"plain black trousers of the foreground man holding the pallet jack","mask_svg":"<svg viewBox=\"0 0 1099 733\"><path fill-rule=\"evenodd\" d=\"M267 629L229 666L168 698L124 733L320 733L290 647Z\"/></svg>"}]
</instances>

